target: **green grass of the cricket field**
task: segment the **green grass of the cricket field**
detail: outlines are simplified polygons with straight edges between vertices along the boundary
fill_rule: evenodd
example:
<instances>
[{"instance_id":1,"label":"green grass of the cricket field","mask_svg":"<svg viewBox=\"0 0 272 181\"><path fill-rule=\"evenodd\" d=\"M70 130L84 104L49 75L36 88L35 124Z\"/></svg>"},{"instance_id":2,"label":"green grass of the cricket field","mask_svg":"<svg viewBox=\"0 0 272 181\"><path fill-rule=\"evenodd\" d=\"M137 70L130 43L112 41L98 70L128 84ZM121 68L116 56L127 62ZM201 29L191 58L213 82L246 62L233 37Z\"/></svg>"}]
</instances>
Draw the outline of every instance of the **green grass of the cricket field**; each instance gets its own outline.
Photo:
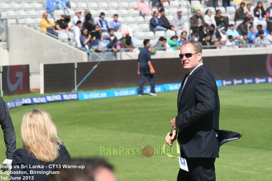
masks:
<instances>
[{"instance_id":1,"label":"green grass of the cricket field","mask_svg":"<svg viewBox=\"0 0 272 181\"><path fill-rule=\"evenodd\" d=\"M243 92L247 90L248 92ZM261 91L259 91L261 90ZM256 92L259 91L259 92ZM177 91L158 96L66 101L23 106L10 110L17 148L22 146L20 122L33 108L47 111L58 127L72 158L98 157L98 147L162 147L170 131L170 120L177 115ZM5 101L15 97L4 96ZM241 139L224 144L215 161L219 181L270 181L272 178L272 84L226 86L219 88L220 129L240 133ZM0 161L5 159L3 134L0 136ZM175 145L175 144L174 144ZM176 153L176 149L174 149ZM167 156L105 157L115 167L119 181L176 180L179 163Z\"/></svg>"}]
</instances>

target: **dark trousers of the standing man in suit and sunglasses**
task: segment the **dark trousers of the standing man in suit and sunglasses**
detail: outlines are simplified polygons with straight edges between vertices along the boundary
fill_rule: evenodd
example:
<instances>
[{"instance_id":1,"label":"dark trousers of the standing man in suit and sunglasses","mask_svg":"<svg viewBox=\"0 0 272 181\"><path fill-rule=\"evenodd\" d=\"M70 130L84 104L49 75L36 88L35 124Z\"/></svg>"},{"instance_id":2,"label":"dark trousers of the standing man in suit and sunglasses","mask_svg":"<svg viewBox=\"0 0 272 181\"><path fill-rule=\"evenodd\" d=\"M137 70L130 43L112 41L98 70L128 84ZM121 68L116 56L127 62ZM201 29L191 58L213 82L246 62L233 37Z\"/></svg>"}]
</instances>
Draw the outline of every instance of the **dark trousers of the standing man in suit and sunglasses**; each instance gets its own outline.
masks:
<instances>
[{"instance_id":1,"label":"dark trousers of the standing man in suit and sunglasses","mask_svg":"<svg viewBox=\"0 0 272 181\"><path fill-rule=\"evenodd\" d=\"M188 158L180 151L189 171L179 169L177 181L215 181L215 158Z\"/></svg>"}]
</instances>

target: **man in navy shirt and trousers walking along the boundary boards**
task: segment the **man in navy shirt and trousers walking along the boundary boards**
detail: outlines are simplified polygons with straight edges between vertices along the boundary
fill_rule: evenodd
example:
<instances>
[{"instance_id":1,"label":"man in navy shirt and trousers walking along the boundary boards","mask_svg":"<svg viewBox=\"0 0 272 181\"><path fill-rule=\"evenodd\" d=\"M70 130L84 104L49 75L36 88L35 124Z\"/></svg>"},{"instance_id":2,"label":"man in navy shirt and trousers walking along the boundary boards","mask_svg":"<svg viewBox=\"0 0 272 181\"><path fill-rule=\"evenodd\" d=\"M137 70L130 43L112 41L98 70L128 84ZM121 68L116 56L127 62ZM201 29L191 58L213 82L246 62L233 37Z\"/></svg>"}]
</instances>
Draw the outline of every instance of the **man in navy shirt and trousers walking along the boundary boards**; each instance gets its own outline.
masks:
<instances>
[{"instance_id":1,"label":"man in navy shirt and trousers walking along the boundary boards","mask_svg":"<svg viewBox=\"0 0 272 181\"><path fill-rule=\"evenodd\" d=\"M155 12L154 12L155 14ZM143 94L143 84L145 82L146 77L148 78L150 82L150 93L149 95L157 95L155 93L155 79L154 79L154 72L152 70L151 65L151 52L148 50L148 48L151 46L150 40L145 39L143 41L144 47L140 51L138 55L138 75L140 75L139 80L139 91L138 96L142 96Z\"/></svg>"}]
</instances>

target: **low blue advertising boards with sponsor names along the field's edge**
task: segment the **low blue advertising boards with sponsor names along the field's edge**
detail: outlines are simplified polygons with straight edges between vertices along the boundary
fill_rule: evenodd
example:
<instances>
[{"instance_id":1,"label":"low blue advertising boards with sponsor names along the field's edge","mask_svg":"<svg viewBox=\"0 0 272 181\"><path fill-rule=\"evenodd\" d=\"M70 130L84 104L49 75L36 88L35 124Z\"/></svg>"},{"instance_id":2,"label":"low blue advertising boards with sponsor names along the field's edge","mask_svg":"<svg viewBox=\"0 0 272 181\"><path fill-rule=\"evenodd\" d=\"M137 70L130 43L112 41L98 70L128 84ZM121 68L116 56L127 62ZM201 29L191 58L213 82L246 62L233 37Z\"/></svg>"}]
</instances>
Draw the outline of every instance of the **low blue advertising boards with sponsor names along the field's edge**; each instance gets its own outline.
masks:
<instances>
[{"instance_id":1,"label":"low blue advertising boards with sponsor names along the field's edge","mask_svg":"<svg viewBox=\"0 0 272 181\"><path fill-rule=\"evenodd\" d=\"M218 87L228 86L228 85L239 85L239 84L260 84L260 83L271 83L271 77L256 77L256 78L244 78L244 79L229 79L229 80L217 80L216 84ZM181 83L163 84L155 86L156 92L173 91L179 90ZM148 94L150 92L150 86L144 87L143 94ZM137 95L138 88L126 88L126 89L116 89L116 90L101 90L101 91L91 91L91 92L80 92L80 93L67 93L67 94L54 94L45 95L38 97L27 97L18 98L13 101L6 102L7 108L17 108L23 105L30 104L45 104L49 102L57 101L69 101L69 100L87 100L87 99L101 99L109 97L120 97L128 95Z\"/></svg>"}]
</instances>

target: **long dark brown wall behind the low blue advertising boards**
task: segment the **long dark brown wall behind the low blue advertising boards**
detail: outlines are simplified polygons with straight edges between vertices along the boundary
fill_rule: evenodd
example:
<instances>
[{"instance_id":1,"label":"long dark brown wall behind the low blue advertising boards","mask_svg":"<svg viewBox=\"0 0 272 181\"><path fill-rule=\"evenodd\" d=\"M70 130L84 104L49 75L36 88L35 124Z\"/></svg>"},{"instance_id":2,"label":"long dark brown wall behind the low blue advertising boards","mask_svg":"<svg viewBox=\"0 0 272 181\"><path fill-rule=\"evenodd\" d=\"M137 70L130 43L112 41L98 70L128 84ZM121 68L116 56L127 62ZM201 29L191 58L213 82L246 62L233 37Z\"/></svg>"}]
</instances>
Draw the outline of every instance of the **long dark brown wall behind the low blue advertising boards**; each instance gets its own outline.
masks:
<instances>
[{"instance_id":1,"label":"long dark brown wall behind the low blue advertising boards","mask_svg":"<svg viewBox=\"0 0 272 181\"><path fill-rule=\"evenodd\" d=\"M203 57L203 63L216 80L269 77L267 55ZM187 73L179 58L152 59L156 85L182 82ZM271 60L270 60L271 62ZM77 63L77 84L97 62ZM272 64L272 63L271 63ZM79 86L78 90L137 87L137 60L103 61ZM75 87L74 64L45 64L44 93L72 91ZM149 82L146 80L145 86Z\"/></svg>"}]
</instances>

